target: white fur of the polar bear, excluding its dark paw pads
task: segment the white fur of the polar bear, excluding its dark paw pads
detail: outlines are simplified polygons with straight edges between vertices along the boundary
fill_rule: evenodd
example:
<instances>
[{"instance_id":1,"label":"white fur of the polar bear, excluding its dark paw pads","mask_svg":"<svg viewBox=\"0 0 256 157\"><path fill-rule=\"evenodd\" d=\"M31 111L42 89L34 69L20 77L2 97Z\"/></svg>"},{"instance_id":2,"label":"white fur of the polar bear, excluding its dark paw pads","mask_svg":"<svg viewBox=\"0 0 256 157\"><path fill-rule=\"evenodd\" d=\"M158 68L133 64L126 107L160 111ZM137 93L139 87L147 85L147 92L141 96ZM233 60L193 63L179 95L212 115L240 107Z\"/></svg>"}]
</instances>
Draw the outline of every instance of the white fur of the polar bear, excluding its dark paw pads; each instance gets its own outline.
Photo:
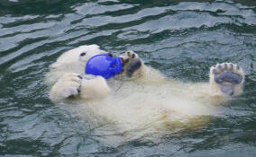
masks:
<instances>
[{"instance_id":1,"label":"white fur of the polar bear, excluding its dark paw pads","mask_svg":"<svg viewBox=\"0 0 256 157\"><path fill-rule=\"evenodd\" d=\"M96 46L92 47L82 46L70 50L53 64L54 67L61 66L57 70L51 68L47 74L47 79L59 77L59 81L50 91L50 98L61 100L70 95L80 97L83 104L78 106L78 112L87 116L91 124L102 118L106 119L107 123L113 123L114 127L105 127L109 134L114 134L116 127L118 132L128 134L128 139L154 134L168 129L177 120L184 122L187 118L197 115L211 115L215 111L213 105L230 99L220 92L219 84L215 83L213 67L210 68L209 83L178 82L143 64L139 73L135 74L135 79L110 79L110 85L100 76L89 79L86 76L80 80L78 74L83 73L84 67L81 68L78 64L78 55L84 50L90 51L87 53L88 59L105 53ZM75 54L74 57L72 53ZM76 70L70 73L70 69ZM235 68L233 72L242 74L244 78L242 69ZM59 73L62 76L59 76ZM242 93L242 83L237 85L234 95ZM80 93L77 91L79 86Z\"/></svg>"}]
</instances>

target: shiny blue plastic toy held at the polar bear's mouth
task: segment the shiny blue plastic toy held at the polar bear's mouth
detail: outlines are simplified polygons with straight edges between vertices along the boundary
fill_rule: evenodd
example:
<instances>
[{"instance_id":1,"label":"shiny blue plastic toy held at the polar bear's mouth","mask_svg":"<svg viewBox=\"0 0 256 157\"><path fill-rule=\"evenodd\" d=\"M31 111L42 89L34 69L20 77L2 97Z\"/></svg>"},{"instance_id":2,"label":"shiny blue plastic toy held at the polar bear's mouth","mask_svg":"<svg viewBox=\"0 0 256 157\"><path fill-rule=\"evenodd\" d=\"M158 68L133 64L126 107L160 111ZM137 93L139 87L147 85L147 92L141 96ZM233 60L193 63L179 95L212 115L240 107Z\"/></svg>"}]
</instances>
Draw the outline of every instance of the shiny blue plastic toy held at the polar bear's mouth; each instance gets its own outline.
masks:
<instances>
[{"instance_id":1,"label":"shiny blue plastic toy held at the polar bear's mouth","mask_svg":"<svg viewBox=\"0 0 256 157\"><path fill-rule=\"evenodd\" d=\"M113 77L122 72L120 57L109 57L108 55L96 55L87 61L86 74L101 75L105 79Z\"/></svg>"}]
</instances>

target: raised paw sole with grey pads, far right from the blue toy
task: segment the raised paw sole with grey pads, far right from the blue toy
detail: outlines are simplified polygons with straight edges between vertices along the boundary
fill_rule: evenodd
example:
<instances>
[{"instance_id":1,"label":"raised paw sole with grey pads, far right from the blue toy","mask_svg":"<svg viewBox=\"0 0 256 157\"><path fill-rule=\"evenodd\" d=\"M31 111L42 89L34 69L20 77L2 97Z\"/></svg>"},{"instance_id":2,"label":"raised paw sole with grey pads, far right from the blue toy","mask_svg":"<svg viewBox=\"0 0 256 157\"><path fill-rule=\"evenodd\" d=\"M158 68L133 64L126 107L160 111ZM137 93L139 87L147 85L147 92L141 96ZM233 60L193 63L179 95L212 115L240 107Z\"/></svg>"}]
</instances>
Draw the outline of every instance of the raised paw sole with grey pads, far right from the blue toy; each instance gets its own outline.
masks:
<instances>
[{"instance_id":1,"label":"raised paw sole with grey pads, far right from the blue toy","mask_svg":"<svg viewBox=\"0 0 256 157\"><path fill-rule=\"evenodd\" d=\"M242 93L244 74L239 65L223 63L212 66L210 80L225 95L236 96Z\"/></svg>"}]
</instances>

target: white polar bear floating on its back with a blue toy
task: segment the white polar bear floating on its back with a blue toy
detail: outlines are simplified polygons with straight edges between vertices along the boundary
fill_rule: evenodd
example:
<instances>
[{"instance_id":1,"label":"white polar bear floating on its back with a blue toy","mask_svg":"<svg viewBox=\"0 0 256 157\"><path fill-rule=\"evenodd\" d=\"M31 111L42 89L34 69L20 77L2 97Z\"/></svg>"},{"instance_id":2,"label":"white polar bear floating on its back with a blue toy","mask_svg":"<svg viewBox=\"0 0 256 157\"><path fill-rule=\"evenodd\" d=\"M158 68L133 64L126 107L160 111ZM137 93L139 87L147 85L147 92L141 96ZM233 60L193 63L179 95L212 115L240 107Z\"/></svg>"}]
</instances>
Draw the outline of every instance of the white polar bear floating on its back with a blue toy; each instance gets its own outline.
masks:
<instances>
[{"instance_id":1,"label":"white polar bear floating on its back with a blue toy","mask_svg":"<svg viewBox=\"0 0 256 157\"><path fill-rule=\"evenodd\" d=\"M208 83L182 83L144 65L136 53L127 51L120 56L122 74L105 80L84 74L87 60L98 54L109 53L96 45L81 46L50 65L46 74L50 99L75 98L79 110L90 115L91 121L104 118L122 133L145 135L165 130L174 120L213 114L216 104L242 94L244 73L232 63L211 66Z\"/></svg>"}]
</instances>

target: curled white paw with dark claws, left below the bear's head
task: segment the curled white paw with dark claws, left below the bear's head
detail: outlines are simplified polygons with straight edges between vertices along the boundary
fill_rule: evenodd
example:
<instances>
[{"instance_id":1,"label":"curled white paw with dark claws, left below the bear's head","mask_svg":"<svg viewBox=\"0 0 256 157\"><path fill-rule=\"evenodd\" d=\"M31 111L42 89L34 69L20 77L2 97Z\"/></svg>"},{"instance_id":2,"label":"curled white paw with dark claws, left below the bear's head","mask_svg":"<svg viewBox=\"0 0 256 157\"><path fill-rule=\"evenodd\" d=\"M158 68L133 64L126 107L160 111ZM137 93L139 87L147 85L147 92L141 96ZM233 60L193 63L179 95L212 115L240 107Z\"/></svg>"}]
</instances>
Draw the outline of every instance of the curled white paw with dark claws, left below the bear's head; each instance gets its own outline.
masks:
<instances>
[{"instance_id":1,"label":"curled white paw with dark claws, left below the bear's head","mask_svg":"<svg viewBox=\"0 0 256 157\"><path fill-rule=\"evenodd\" d=\"M66 99L77 96L79 93L81 77L78 74L63 74L50 90L53 100Z\"/></svg>"}]
</instances>

